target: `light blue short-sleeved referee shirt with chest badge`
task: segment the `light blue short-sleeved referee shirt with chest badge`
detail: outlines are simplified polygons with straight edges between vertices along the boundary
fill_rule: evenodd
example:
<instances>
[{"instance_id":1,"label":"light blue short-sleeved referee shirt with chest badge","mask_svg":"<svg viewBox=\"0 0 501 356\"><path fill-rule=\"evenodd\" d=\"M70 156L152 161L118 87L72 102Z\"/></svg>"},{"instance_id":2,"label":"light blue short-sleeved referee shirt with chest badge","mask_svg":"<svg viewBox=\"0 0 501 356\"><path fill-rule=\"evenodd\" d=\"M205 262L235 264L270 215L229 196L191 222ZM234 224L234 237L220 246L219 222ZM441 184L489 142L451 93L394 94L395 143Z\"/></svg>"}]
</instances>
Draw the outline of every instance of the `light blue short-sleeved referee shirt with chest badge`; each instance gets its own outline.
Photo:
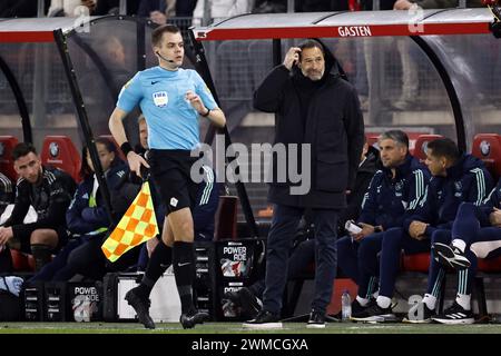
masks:
<instances>
[{"instance_id":1,"label":"light blue short-sleeved referee shirt with chest badge","mask_svg":"<svg viewBox=\"0 0 501 356\"><path fill-rule=\"evenodd\" d=\"M199 144L199 128L198 112L185 100L188 90L197 93L206 108L217 108L195 70L170 71L159 66L138 71L121 88L117 107L129 112L139 103L148 125L149 148L191 150Z\"/></svg>"}]
</instances>

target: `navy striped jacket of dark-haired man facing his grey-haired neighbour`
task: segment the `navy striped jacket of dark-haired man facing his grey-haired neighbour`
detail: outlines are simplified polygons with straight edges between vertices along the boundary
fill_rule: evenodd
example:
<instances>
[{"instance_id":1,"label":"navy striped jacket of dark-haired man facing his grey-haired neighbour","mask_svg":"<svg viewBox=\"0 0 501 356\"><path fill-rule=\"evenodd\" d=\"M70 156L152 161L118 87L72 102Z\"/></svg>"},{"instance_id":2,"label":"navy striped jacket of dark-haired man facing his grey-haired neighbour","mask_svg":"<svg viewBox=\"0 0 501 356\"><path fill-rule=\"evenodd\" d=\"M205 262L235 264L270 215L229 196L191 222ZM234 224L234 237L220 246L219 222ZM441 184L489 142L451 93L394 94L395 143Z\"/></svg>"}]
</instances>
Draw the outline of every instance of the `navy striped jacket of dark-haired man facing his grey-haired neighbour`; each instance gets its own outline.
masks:
<instances>
[{"instance_id":1,"label":"navy striped jacket of dark-haired man facing his grey-haired neighbour","mask_svg":"<svg viewBox=\"0 0 501 356\"><path fill-rule=\"evenodd\" d=\"M448 168L446 177L433 177L415 215L405 220L405 229L413 220L430 224L425 235L436 228L451 229L461 202L482 205L492 189L492 178L483 162L471 155L463 155Z\"/></svg>"}]
</instances>

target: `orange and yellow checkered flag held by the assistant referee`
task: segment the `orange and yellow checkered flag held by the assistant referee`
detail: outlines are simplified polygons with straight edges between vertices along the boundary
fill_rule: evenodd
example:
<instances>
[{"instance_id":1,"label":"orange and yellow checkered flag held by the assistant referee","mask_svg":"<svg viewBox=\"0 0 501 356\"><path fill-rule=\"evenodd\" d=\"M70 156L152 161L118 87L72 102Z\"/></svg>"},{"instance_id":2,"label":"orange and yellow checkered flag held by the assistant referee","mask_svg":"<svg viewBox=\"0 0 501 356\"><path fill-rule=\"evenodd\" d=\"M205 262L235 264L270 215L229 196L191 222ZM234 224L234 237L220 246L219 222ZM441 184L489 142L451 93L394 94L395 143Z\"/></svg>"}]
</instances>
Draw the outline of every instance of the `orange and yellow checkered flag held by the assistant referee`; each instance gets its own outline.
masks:
<instances>
[{"instance_id":1,"label":"orange and yellow checkered flag held by the assistant referee","mask_svg":"<svg viewBox=\"0 0 501 356\"><path fill-rule=\"evenodd\" d=\"M115 230L102 244L101 249L106 258L114 263L129 249L157 234L157 218L149 184L146 181Z\"/></svg>"}]
</instances>

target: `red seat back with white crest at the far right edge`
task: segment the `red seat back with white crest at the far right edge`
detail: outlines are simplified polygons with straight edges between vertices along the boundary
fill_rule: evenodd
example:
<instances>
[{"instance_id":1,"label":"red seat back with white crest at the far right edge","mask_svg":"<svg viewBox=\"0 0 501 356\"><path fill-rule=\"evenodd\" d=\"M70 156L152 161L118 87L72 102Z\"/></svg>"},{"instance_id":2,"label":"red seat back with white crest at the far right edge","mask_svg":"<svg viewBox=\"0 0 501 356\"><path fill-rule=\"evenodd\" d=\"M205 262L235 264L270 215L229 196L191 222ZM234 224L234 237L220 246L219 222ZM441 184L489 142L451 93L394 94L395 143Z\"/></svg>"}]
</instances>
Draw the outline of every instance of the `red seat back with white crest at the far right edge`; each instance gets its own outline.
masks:
<instances>
[{"instance_id":1,"label":"red seat back with white crest at the far right edge","mask_svg":"<svg viewBox=\"0 0 501 356\"><path fill-rule=\"evenodd\" d=\"M501 177L501 135L479 134L473 138L472 155L483 160L492 177Z\"/></svg>"}]
</instances>

